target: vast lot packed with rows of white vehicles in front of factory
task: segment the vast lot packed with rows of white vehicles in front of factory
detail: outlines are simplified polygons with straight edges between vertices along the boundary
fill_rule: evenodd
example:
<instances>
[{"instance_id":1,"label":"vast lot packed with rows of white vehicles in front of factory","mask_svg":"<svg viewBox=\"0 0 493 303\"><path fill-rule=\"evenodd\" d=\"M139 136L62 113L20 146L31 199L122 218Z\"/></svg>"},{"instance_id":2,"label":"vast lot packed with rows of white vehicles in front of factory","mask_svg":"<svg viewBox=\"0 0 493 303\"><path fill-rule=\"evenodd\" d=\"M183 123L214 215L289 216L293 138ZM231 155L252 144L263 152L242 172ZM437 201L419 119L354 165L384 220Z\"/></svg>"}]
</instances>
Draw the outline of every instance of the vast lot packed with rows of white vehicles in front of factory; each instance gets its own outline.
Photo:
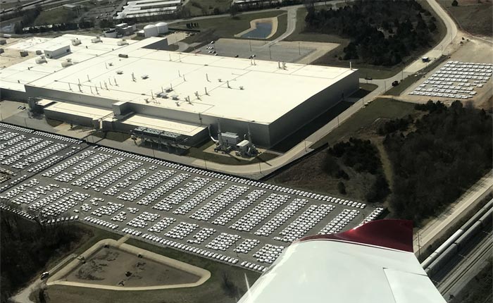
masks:
<instances>
[{"instance_id":1,"label":"vast lot packed with rows of white vehicles in front of factory","mask_svg":"<svg viewBox=\"0 0 493 303\"><path fill-rule=\"evenodd\" d=\"M0 168L3 209L46 224L78 220L254 271L300 237L348 230L382 212L4 123Z\"/></svg>"}]
</instances>

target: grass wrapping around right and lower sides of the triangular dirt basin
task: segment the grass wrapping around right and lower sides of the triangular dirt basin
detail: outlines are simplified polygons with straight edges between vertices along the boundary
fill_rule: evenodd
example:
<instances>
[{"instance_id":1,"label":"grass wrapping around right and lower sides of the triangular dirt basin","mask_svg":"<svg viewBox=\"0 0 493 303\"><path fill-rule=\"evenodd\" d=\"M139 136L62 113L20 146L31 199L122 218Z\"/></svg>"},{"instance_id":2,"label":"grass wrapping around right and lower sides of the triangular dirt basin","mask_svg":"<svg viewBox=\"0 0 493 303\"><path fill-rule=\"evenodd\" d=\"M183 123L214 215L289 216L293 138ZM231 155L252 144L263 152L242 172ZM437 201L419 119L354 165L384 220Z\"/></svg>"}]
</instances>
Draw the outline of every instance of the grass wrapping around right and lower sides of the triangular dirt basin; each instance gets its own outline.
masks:
<instances>
[{"instance_id":1,"label":"grass wrapping around right and lower sides of the triangular dirt basin","mask_svg":"<svg viewBox=\"0 0 493 303\"><path fill-rule=\"evenodd\" d=\"M170 290L146 291L116 291L96 290L84 287L70 287L54 285L48 287L49 302L121 302L121 303L235 303L246 292L246 279L253 284L260 276L258 273L246 271L242 268L221 264L210 259L201 258L192 254L178 252L175 249L157 247L146 242L129 239L128 245L147 249L157 254L169 256L211 272L211 278L198 287L177 288ZM225 287L224 277L227 277L233 287ZM236 290L235 290L236 289Z\"/></svg>"}]
</instances>

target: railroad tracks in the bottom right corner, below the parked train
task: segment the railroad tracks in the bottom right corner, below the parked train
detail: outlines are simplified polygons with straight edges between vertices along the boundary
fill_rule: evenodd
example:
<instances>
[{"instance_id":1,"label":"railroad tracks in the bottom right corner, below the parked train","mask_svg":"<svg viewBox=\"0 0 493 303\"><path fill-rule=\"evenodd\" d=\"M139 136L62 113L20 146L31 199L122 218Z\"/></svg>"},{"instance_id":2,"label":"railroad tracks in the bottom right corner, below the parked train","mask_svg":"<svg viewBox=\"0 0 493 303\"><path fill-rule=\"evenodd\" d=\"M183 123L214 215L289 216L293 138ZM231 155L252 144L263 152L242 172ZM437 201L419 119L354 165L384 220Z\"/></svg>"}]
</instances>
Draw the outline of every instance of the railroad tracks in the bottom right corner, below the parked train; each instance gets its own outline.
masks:
<instances>
[{"instance_id":1,"label":"railroad tracks in the bottom right corner, below the parked train","mask_svg":"<svg viewBox=\"0 0 493 303\"><path fill-rule=\"evenodd\" d=\"M473 267L474 264L476 264L480 259L482 259L483 256L486 254L491 255L493 251L493 237L492 237L492 232L489 232L488 235L485 237L485 242L480 243L473 249L468 255L470 257L465 256L463 261L459 263L456 268L458 268L458 274L457 271L454 273L451 273L450 276L452 278L445 278L442 280L442 283L437 285L437 289L439 290L442 295L446 295L458 281L460 281L463 276L466 276L470 268ZM455 275L455 276L454 276Z\"/></svg>"}]
</instances>

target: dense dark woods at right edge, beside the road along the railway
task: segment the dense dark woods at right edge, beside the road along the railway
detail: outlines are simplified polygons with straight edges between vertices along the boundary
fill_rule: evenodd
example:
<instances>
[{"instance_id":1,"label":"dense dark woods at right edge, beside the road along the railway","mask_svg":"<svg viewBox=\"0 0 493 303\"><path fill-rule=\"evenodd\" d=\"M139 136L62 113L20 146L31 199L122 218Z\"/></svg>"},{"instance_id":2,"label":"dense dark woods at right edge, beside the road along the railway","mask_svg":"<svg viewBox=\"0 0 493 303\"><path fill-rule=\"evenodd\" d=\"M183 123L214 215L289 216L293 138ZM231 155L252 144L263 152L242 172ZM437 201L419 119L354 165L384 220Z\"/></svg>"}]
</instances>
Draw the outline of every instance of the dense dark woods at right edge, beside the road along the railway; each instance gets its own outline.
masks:
<instances>
[{"instance_id":1,"label":"dense dark woods at right edge, beside the road along the railway","mask_svg":"<svg viewBox=\"0 0 493 303\"><path fill-rule=\"evenodd\" d=\"M471 104L429 101L416 109L427 113L414 130L389 129L384 144L394 175L389 205L398 218L420 223L492 169L493 133L492 116Z\"/></svg>"}]
</instances>

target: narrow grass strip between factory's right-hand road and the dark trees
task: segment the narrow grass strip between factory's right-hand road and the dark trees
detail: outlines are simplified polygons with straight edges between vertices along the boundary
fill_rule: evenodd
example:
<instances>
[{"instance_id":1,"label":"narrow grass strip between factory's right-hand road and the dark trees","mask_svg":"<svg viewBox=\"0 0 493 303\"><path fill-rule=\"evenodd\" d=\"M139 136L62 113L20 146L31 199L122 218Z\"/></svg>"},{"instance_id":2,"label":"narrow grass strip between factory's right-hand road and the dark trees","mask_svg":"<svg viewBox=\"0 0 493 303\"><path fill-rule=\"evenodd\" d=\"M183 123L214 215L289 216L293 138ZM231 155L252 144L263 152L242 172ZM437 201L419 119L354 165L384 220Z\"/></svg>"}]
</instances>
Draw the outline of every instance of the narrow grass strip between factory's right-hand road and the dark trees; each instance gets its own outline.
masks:
<instances>
[{"instance_id":1,"label":"narrow grass strip between factory's right-hand road and the dark trees","mask_svg":"<svg viewBox=\"0 0 493 303\"><path fill-rule=\"evenodd\" d=\"M353 116L345 120L338 128L335 128L335 130L332 130L332 132L314 143L311 148L320 147L325 143L334 144L344 137L349 138L361 128L368 128L368 126L379 118L402 118L412 113L416 113L414 104L412 103L377 98L364 109L354 113Z\"/></svg>"}]
</instances>

